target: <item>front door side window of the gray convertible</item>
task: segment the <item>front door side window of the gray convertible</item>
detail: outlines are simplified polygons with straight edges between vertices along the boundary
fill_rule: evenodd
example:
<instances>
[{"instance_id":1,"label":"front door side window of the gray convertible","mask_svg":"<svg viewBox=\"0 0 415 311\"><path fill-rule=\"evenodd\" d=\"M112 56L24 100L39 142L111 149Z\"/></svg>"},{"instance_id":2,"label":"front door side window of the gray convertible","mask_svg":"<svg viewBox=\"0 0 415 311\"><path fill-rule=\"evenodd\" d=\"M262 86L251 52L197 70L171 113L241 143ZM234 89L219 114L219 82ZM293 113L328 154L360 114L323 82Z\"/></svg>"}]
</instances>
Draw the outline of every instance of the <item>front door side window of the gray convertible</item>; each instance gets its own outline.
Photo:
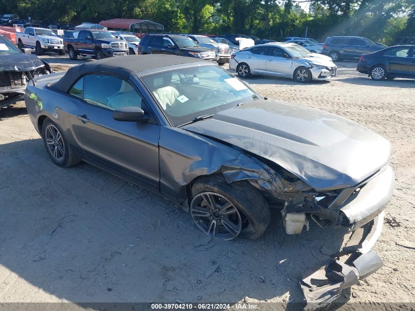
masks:
<instances>
[{"instance_id":1,"label":"front door side window of the gray convertible","mask_svg":"<svg viewBox=\"0 0 415 311\"><path fill-rule=\"evenodd\" d=\"M123 107L142 106L142 98L134 87L110 75L86 75L83 100L89 104L116 110Z\"/></svg>"}]
</instances>

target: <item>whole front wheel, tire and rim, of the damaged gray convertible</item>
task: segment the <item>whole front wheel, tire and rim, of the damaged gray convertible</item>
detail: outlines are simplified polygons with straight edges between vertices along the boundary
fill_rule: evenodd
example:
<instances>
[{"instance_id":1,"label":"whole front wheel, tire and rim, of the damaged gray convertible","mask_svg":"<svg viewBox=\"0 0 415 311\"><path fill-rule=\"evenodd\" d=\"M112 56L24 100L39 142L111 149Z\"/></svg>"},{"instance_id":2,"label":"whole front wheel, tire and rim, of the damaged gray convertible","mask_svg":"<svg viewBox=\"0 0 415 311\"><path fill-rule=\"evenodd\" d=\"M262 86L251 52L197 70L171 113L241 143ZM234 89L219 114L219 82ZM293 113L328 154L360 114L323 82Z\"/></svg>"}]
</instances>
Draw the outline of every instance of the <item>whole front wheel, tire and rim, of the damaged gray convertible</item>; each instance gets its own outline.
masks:
<instances>
[{"instance_id":1,"label":"whole front wheel, tire and rim, of the damaged gray convertible","mask_svg":"<svg viewBox=\"0 0 415 311\"><path fill-rule=\"evenodd\" d=\"M254 240L271 220L265 198L248 181L228 183L222 175L199 177L192 187L190 212L205 233L223 240Z\"/></svg>"}]
</instances>

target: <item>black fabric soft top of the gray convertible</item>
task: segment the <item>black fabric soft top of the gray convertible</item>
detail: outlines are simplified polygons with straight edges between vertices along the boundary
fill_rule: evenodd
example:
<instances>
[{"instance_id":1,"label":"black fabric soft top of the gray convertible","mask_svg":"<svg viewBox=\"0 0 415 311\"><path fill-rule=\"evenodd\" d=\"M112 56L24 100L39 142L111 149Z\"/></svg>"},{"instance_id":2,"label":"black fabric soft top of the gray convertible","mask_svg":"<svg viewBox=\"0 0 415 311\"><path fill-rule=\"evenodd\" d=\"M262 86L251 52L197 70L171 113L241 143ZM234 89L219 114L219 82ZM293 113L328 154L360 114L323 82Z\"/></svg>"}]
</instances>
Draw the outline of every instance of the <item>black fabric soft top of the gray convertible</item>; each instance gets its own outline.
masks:
<instances>
[{"instance_id":1,"label":"black fabric soft top of the gray convertible","mask_svg":"<svg viewBox=\"0 0 415 311\"><path fill-rule=\"evenodd\" d=\"M79 66L69 68L66 74L50 88L60 92L67 92L79 77L87 73L111 73L127 80L130 75L165 66L180 65L195 62L205 62L196 57L183 57L175 55L131 55L109 57L96 61L89 61Z\"/></svg>"}]
</instances>

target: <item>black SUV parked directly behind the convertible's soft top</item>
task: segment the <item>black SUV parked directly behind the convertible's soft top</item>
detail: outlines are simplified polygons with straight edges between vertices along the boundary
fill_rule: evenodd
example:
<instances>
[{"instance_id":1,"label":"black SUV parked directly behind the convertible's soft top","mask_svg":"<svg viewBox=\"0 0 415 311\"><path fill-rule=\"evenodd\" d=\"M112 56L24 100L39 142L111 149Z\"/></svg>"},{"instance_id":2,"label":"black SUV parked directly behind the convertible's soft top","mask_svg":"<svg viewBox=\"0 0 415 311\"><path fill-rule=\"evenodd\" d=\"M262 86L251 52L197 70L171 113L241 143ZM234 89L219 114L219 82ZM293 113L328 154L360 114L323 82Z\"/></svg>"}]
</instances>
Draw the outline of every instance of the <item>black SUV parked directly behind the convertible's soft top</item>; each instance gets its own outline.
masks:
<instances>
[{"instance_id":1,"label":"black SUV parked directly behind the convertible's soft top","mask_svg":"<svg viewBox=\"0 0 415 311\"><path fill-rule=\"evenodd\" d=\"M215 60L212 49L200 47L186 35L147 34L138 44L139 54L168 54Z\"/></svg>"}]
</instances>

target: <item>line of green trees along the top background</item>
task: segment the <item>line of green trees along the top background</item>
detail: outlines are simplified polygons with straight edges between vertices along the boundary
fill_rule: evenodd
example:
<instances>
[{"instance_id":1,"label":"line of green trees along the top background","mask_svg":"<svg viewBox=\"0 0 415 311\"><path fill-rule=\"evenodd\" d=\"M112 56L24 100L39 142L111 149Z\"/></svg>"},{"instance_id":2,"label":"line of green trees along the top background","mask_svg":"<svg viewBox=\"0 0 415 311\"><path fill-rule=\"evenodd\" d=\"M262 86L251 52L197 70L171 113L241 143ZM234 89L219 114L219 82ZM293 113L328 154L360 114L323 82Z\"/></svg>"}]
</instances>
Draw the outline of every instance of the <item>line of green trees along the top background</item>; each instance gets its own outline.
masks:
<instances>
[{"instance_id":1,"label":"line of green trees along the top background","mask_svg":"<svg viewBox=\"0 0 415 311\"><path fill-rule=\"evenodd\" d=\"M2 14L32 20L148 19L171 32L231 32L276 40L304 36L307 30L320 40L359 35L390 45L398 36L415 35L415 0L0 0L0 7Z\"/></svg>"}]
</instances>

